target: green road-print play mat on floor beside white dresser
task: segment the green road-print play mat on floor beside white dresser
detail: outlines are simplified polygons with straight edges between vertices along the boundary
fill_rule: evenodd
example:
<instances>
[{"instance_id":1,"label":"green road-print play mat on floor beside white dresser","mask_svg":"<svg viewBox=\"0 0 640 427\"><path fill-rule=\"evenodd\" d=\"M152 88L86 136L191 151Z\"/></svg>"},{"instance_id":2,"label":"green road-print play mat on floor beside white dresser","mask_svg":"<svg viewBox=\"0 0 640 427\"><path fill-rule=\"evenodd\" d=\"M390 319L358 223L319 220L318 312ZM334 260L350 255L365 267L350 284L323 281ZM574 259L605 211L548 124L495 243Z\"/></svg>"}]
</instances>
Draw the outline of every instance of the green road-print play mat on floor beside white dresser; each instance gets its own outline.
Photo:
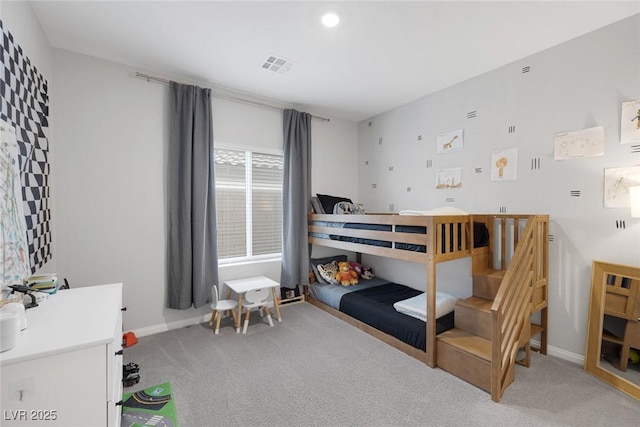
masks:
<instances>
[{"instance_id":1,"label":"green road-print play mat on floor beside white dresser","mask_svg":"<svg viewBox=\"0 0 640 427\"><path fill-rule=\"evenodd\" d=\"M171 384L162 383L122 394L122 427L177 427Z\"/></svg>"}]
</instances>

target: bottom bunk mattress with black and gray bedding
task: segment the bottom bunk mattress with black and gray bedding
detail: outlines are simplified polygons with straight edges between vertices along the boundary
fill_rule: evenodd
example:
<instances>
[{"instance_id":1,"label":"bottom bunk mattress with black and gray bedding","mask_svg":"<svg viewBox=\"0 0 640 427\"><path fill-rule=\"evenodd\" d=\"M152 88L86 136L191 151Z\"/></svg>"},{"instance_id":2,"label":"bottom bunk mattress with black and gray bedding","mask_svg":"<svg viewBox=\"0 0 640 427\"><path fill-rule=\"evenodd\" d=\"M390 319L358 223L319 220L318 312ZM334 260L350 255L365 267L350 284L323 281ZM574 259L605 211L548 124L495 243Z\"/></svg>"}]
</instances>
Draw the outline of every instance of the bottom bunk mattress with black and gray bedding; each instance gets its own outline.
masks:
<instances>
[{"instance_id":1,"label":"bottom bunk mattress with black and gray bedding","mask_svg":"<svg viewBox=\"0 0 640 427\"><path fill-rule=\"evenodd\" d=\"M427 329L423 320L400 313L394 304L423 292L375 278L356 286L312 285L311 295L369 326L426 351ZM315 289L314 289L315 288ZM335 291L335 293L333 293ZM331 297L326 298L327 295ZM453 311L436 319L436 334L454 326Z\"/></svg>"}]
</instances>

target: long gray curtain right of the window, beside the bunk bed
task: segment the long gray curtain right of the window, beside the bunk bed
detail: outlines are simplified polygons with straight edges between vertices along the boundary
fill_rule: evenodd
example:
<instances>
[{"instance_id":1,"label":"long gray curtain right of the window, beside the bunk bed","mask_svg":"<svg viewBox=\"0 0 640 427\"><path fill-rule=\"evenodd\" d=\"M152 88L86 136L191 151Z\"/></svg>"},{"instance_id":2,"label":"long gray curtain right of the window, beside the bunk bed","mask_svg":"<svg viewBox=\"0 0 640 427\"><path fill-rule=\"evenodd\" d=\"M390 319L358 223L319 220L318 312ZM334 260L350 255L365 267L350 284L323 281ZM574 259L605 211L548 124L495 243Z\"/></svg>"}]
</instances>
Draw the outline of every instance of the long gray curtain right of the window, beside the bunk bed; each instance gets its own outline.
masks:
<instances>
[{"instance_id":1,"label":"long gray curtain right of the window, beside the bunk bed","mask_svg":"<svg viewBox=\"0 0 640 427\"><path fill-rule=\"evenodd\" d=\"M307 212L311 198L311 114L284 110L280 285L309 284Z\"/></svg>"}]
</instances>

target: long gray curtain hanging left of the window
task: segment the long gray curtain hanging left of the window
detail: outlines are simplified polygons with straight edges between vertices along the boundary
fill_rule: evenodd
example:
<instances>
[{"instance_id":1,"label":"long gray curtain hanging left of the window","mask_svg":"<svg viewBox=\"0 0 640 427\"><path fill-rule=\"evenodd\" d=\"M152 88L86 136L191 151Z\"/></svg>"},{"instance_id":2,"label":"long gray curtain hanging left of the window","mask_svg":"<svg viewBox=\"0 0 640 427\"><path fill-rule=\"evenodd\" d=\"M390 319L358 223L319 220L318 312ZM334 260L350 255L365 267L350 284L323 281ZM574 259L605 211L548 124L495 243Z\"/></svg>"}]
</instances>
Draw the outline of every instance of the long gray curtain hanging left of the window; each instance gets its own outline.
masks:
<instances>
[{"instance_id":1,"label":"long gray curtain hanging left of the window","mask_svg":"<svg viewBox=\"0 0 640 427\"><path fill-rule=\"evenodd\" d=\"M169 86L167 307L198 308L218 284L211 90Z\"/></svg>"}]
</instances>

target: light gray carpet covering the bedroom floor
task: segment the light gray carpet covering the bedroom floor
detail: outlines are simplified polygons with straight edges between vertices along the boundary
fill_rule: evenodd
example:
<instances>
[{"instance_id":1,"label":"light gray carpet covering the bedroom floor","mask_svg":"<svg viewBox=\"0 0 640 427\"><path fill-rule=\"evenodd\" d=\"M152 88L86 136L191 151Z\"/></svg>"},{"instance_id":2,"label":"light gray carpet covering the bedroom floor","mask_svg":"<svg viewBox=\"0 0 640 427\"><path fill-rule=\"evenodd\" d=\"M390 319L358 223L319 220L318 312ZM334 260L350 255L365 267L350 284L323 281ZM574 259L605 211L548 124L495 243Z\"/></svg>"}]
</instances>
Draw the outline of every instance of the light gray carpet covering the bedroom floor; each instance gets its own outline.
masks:
<instances>
[{"instance_id":1,"label":"light gray carpet covering the bedroom floor","mask_svg":"<svg viewBox=\"0 0 640 427\"><path fill-rule=\"evenodd\" d=\"M246 335L225 319L153 336L125 350L136 391L170 381L181 427L634 426L640 402L582 366L534 354L500 403L484 391L307 304ZM264 322L264 323L262 323Z\"/></svg>"}]
</instances>

